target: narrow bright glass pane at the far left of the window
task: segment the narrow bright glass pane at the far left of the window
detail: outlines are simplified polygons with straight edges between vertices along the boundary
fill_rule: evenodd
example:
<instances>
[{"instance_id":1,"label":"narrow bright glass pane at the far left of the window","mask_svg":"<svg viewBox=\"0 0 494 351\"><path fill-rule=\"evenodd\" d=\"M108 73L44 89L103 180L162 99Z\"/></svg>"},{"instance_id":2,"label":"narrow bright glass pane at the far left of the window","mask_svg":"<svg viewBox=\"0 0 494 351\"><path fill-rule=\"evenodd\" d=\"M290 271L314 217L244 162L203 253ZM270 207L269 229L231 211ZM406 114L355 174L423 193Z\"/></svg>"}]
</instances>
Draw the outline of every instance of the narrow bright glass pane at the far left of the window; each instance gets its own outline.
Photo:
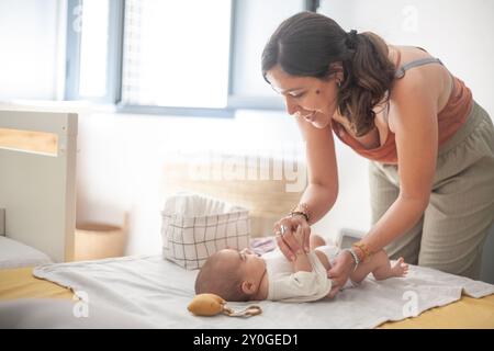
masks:
<instances>
[{"instance_id":1,"label":"narrow bright glass pane at the far left of the window","mask_svg":"<svg viewBox=\"0 0 494 351\"><path fill-rule=\"evenodd\" d=\"M109 0L83 0L79 95L106 94Z\"/></svg>"}]
</instances>

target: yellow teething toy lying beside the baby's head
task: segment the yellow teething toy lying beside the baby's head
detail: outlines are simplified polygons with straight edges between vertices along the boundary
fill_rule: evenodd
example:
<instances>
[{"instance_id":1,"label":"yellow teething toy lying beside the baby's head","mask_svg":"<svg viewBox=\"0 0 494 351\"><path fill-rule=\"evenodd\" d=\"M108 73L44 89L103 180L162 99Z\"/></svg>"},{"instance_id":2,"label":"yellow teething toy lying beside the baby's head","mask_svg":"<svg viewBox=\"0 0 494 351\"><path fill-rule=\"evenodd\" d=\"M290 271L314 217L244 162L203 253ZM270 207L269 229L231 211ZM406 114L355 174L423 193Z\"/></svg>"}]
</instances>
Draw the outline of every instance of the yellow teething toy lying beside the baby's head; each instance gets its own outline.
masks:
<instances>
[{"instance_id":1,"label":"yellow teething toy lying beside the baby's head","mask_svg":"<svg viewBox=\"0 0 494 351\"><path fill-rule=\"evenodd\" d=\"M195 295L187 309L197 316L216 316L223 313L231 317L250 317L262 313L262 309L256 305L248 306L240 312L234 312L226 307L226 301L216 294Z\"/></svg>"}]
</instances>

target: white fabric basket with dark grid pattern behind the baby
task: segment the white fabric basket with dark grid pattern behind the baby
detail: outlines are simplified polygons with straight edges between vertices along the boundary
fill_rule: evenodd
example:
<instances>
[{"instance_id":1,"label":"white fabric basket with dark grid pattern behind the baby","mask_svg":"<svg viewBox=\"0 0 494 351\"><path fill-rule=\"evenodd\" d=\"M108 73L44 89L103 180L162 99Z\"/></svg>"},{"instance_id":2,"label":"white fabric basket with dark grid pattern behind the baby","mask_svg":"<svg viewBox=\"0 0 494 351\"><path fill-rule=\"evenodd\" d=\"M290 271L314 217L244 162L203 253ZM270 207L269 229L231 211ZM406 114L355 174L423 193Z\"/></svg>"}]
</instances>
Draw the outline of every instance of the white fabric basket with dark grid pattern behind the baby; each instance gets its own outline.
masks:
<instances>
[{"instance_id":1,"label":"white fabric basket with dark grid pattern behind the baby","mask_svg":"<svg viewBox=\"0 0 494 351\"><path fill-rule=\"evenodd\" d=\"M166 200L161 216L164 258L187 270L201 268L218 250L249 245L249 213L240 206L180 192Z\"/></svg>"}]
</instances>

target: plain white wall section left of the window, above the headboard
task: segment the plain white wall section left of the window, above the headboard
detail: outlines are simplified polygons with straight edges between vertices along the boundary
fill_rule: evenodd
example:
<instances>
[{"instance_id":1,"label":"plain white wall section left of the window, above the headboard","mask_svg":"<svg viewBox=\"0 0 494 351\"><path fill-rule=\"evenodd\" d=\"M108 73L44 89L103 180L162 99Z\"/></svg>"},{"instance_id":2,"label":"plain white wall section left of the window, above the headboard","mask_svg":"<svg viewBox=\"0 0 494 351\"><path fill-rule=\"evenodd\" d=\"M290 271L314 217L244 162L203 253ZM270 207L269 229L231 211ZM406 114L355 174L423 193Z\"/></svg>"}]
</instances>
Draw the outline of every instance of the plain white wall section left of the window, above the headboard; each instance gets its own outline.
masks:
<instances>
[{"instance_id":1,"label":"plain white wall section left of the window, above the headboard","mask_svg":"<svg viewBox=\"0 0 494 351\"><path fill-rule=\"evenodd\" d=\"M0 100L55 98L60 3L0 1Z\"/></svg>"}]
</instances>

